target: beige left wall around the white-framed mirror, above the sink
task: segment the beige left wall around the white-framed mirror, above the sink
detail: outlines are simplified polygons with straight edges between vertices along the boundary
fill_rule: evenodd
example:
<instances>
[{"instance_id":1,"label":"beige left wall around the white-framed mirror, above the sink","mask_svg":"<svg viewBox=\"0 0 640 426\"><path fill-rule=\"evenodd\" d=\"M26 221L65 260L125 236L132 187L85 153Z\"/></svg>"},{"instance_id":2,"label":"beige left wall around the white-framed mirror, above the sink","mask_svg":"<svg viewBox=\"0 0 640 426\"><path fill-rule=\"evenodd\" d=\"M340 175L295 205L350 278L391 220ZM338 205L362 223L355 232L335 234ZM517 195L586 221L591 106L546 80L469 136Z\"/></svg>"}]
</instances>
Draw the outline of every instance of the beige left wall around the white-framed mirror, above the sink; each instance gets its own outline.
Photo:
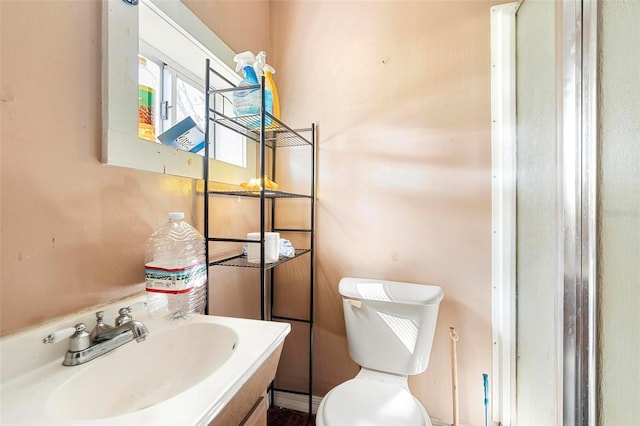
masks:
<instances>
[{"instance_id":1,"label":"beige left wall around the white-framed mirror, above the sink","mask_svg":"<svg viewBox=\"0 0 640 426\"><path fill-rule=\"evenodd\" d=\"M258 14L267 3L247 4ZM236 34L240 5L190 5L226 14L208 23L233 48L266 48L266 18ZM192 180L100 162L100 1L2 0L0 13L6 334L143 291L146 238L169 211L198 215Z\"/></svg>"}]
</instances>

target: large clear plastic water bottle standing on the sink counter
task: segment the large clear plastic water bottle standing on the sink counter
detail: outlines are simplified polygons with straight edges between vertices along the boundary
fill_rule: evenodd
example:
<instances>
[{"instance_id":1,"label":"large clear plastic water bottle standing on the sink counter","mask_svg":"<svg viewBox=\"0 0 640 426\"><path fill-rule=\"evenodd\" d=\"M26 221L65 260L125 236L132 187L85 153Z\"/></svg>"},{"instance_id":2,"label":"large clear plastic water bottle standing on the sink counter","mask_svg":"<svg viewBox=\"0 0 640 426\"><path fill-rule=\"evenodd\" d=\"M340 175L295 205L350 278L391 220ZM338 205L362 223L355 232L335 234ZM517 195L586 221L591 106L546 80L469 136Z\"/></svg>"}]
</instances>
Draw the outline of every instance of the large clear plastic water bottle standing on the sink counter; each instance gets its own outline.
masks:
<instances>
[{"instance_id":1,"label":"large clear plastic water bottle standing on the sink counter","mask_svg":"<svg viewBox=\"0 0 640 426\"><path fill-rule=\"evenodd\" d=\"M173 320L203 313L207 266L202 235L184 221L184 213L169 213L169 222L145 244L147 309L153 318Z\"/></svg>"}]
</instances>

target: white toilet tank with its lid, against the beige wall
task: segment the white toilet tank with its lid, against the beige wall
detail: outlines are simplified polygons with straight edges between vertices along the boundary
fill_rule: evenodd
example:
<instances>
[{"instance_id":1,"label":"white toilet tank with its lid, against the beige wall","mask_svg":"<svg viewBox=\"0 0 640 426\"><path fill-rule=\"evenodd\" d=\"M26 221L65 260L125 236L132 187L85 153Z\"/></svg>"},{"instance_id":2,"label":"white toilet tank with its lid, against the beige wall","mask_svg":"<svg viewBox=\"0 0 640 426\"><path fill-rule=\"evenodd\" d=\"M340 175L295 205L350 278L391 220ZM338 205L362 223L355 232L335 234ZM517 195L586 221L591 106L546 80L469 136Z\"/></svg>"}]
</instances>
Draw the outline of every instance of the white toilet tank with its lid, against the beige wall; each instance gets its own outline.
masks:
<instances>
[{"instance_id":1,"label":"white toilet tank with its lid, against the beige wall","mask_svg":"<svg viewBox=\"0 0 640 426\"><path fill-rule=\"evenodd\" d=\"M349 355L361 367L401 375L429 365L441 287L368 278L342 278Z\"/></svg>"}]
</instances>

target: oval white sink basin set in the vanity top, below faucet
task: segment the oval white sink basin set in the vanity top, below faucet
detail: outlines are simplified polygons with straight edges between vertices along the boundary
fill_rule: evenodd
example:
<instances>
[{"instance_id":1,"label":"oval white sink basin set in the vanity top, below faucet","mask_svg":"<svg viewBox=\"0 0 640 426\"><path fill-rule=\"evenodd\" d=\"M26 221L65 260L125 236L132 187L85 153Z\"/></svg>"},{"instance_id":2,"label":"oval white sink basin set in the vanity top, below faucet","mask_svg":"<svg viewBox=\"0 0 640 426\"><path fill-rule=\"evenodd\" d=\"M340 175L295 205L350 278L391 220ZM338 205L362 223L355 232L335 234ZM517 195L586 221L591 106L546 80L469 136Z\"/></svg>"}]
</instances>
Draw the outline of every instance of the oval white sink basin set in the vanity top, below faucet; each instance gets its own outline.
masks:
<instances>
[{"instance_id":1,"label":"oval white sink basin set in the vanity top, below faucet","mask_svg":"<svg viewBox=\"0 0 640 426\"><path fill-rule=\"evenodd\" d=\"M151 333L145 342L78 366L81 371L53 392L47 409L63 419L91 420L156 405L210 376L237 344L237 334L220 324L186 323ZM88 390L92 403L78 404Z\"/></svg>"}]
</instances>

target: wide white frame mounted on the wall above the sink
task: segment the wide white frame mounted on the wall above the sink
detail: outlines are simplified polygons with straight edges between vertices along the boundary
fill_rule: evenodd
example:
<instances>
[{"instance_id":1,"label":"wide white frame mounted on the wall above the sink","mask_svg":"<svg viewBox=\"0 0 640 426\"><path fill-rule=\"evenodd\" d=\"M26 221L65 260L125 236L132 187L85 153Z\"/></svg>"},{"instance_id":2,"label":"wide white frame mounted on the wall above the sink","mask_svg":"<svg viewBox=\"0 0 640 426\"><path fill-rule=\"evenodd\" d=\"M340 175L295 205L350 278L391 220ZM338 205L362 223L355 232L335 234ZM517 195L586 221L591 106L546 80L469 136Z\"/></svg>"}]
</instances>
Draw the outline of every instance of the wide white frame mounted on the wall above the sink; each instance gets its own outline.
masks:
<instances>
[{"instance_id":1,"label":"wide white frame mounted on the wall above the sink","mask_svg":"<svg viewBox=\"0 0 640 426\"><path fill-rule=\"evenodd\" d=\"M235 53L179 0L125 0L102 3L102 162L171 175L202 179L203 157L138 137L138 53L140 13L154 12L175 34L193 41L193 52L181 63L204 80L205 58L229 81ZM166 31L162 32L166 36ZM204 87L203 87L204 91ZM253 146L253 144L252 144ZM255 175L255 149L247 149L246 164L209 162L210 180L238 184Z\"/></svg>"}]
</instances>

